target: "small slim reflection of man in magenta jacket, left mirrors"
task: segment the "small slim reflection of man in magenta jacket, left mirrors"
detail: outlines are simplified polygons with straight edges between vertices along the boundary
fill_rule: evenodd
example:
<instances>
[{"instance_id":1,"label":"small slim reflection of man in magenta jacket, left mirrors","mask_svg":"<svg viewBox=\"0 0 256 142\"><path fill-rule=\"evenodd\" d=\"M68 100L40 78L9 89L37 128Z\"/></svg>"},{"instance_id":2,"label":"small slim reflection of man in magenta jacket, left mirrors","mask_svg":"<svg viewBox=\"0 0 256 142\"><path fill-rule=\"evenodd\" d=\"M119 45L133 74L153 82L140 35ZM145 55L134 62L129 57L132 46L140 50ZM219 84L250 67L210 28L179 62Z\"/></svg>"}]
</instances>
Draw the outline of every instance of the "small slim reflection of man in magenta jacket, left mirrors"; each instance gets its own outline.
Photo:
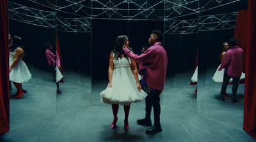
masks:
<instances>
[{"instance_id":1,"label":"small slim reflection of man in magenta jacket, left mirrors","mask_svg":"<svg viewBox=\"0 0 256 142\"><path fill-rule=\"evenodd\" d=\"M48 65L51 66L51 72L52 72L52 78L53 81L56 82L56 55L52 53L52 45L50 43L45 43L45 56L48 61ZM59 82L56 82L57 84L57 93L61 93L59 89Z\"/></svg>"}]
</instances>

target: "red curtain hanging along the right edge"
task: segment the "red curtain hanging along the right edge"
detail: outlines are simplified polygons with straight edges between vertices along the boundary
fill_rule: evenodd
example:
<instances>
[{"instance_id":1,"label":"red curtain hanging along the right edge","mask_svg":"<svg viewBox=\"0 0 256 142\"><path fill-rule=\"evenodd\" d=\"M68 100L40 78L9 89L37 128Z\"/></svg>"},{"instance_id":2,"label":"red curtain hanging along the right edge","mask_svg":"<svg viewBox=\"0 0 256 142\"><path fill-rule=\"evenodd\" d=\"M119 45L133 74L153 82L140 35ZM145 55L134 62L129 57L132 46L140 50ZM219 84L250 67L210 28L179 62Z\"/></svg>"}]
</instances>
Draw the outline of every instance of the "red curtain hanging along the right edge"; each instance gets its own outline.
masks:
<instances>
[{"instance_id":1,"label":"red curtain hanging along the right edge","mask_svg":"<svg viewBox=\"0 0 256 142\"><path fill-rule=\"evenodd\" d=\"M244 130L256 138L256 1L248 3Z\"/></svg>"}]
</instances>

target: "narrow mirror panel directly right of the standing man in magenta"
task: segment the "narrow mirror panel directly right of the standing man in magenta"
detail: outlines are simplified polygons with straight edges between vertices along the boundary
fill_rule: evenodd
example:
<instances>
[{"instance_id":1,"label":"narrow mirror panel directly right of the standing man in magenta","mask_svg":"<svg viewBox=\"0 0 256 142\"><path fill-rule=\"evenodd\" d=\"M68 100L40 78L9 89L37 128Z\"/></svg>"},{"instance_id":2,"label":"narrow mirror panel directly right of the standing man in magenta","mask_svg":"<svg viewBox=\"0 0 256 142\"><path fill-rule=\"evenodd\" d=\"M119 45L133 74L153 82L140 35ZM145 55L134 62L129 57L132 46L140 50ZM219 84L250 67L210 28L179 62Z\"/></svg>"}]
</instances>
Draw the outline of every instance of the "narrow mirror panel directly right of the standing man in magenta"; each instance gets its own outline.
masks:
<instances>
[{"instance_id":1,"label":"narrow mirror panel directly right of the standing man in magenta","mask_svg":"<svg viewBox=\"0 0 256 142\"><path fill-rule=\"evenodd\" d=\"M164 92L168 92L165 99L175 115L196 113L197 81L192 84L191 78L197 66L197 26L198 1L164 2L164 45L168 47Z\"/></svg>"}]
</instances>

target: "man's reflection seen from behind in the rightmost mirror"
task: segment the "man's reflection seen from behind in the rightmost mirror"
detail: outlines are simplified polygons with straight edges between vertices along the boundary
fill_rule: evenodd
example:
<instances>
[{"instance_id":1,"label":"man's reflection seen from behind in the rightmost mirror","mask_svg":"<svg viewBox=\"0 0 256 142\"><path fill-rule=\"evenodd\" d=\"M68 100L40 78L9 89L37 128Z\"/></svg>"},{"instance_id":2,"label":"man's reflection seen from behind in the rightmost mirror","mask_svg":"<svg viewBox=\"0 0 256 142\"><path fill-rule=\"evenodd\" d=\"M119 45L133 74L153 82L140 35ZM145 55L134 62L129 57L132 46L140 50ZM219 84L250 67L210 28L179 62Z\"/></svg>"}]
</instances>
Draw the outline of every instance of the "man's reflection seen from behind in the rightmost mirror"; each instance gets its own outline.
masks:
<instances>
[{"instance_id":1,"label":"man's reflection seen from behind in the rightmost mirror","mask_svg":"<svg viewBox=\"0 0 256 142\"><path fill-rule=\"evenodd\" d=\"M237 46L237 39L231 38L229 40L230 49L225 53L225 57L221 62L221 66L218 71L225 68L223 83L221 87L221 94L216 99L225 101L224 95L226 94L228 81L232 78L232 103L237 103L236 92L239 85L239 78L243 69L243 49Z\"/></svg>"}]
</instances>

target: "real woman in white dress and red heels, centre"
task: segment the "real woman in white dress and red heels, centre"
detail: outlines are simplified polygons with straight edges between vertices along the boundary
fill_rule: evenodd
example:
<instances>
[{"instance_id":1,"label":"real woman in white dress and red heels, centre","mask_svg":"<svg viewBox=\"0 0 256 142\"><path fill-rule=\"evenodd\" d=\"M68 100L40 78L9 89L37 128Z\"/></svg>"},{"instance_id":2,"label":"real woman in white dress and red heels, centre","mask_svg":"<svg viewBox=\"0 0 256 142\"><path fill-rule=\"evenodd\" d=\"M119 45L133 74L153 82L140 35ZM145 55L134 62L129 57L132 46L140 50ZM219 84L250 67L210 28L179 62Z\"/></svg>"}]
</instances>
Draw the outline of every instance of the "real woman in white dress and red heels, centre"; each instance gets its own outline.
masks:
<instances>
[{"instance_id":1,"label":"real woman in white dress and red heels, centre","mask_svg":"<svg viewBox=\"0 0 256 142\"><path fill-rule=\"evenodd\" d=\"M118 36L109 57L108 87L100 92L100 96L103 103L112 104L114 120L111 129L116 127L119 104L124 104L124 129L128 130L130 104L142 101L147 94L141 90L136 62L125 55L124 45L129 46L127 36Z\"/></svg>"}]
</instances>

